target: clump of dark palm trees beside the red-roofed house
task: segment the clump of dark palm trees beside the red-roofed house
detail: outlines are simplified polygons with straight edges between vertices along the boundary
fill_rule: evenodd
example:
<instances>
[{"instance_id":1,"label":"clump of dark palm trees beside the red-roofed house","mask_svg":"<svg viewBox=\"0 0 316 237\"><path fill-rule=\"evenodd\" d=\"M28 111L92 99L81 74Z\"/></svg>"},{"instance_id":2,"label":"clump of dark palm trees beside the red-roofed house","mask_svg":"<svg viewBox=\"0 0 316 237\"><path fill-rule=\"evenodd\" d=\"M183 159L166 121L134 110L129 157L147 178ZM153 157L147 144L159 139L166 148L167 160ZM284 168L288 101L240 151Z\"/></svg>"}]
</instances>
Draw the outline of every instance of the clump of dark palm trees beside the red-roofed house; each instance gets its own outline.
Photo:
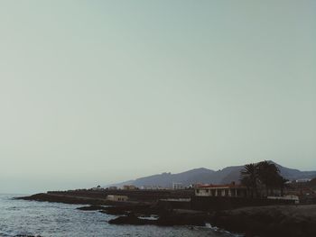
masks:
<instances>
[{"instance_id":1,"label":"clump of dark palm trees beside the red-roofed house","mask_svg":"<svg viewBox=\"0 0 316 237\"><path fill-rule=\"evenodd\" d=\"M251 196L262 196L263 188L265 196L273 195L275 189L279 189L283 196L287 179L280 175L280 170L273 163L265 160L256 164L247 164L240 171L240 181L248 188Z\"/></svg>"}]
</instances>

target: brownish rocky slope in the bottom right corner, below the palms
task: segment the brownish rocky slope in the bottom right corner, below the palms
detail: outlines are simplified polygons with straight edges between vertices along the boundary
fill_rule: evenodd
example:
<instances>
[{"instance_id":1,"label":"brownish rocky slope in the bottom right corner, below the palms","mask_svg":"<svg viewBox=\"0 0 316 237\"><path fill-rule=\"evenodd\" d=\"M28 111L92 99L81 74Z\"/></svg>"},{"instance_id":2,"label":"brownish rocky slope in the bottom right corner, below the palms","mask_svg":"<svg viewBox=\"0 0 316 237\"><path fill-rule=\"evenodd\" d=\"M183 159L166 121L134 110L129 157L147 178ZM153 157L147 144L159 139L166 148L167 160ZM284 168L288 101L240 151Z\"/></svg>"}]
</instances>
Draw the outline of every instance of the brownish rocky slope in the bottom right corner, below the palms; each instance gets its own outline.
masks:
<instances>
[{"instance_id":1,"label":"brownish rocky slope in the bottom right corner, below the palms","mask_svg":"<svg viewBox=\"0 0 316 237\"><path fill-rule=\"evenodd\" d=\"M316 205L245 207L217 212L210 223L246 236L314 237Z\"/></svg>"}]
</instances>

